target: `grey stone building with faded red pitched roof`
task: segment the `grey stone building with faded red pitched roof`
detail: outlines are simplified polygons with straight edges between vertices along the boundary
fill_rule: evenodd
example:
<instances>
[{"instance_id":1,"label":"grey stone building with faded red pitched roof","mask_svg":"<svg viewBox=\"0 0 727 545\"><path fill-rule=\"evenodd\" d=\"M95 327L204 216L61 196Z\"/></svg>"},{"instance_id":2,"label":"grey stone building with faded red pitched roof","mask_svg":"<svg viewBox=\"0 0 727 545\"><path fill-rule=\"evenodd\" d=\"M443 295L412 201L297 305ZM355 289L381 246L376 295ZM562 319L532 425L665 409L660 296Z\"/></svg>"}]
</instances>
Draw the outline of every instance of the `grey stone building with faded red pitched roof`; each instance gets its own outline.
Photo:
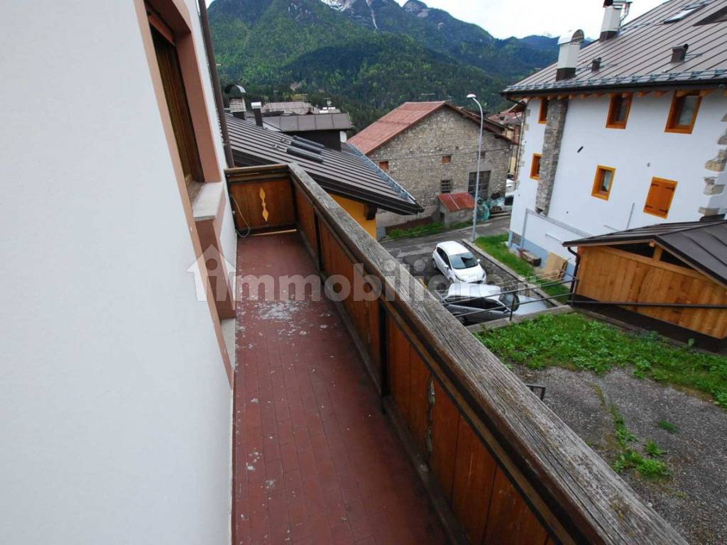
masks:
<instances>
[{"instance_id":1,"label":"grey stone building with faded red pitched roof","mask_svg":"<svg viewBox=\"0 0 727 545\"><path fill-rule=\"evenodd\" d=\"M505 194L512 141L485 120L481 158L483 198ZM349 140L404 187L424 211L416 216L379 212L379 235L438 215L438 195L475 193L480 118L449 102L406 102Z\"/></svg>"}]
</instances>

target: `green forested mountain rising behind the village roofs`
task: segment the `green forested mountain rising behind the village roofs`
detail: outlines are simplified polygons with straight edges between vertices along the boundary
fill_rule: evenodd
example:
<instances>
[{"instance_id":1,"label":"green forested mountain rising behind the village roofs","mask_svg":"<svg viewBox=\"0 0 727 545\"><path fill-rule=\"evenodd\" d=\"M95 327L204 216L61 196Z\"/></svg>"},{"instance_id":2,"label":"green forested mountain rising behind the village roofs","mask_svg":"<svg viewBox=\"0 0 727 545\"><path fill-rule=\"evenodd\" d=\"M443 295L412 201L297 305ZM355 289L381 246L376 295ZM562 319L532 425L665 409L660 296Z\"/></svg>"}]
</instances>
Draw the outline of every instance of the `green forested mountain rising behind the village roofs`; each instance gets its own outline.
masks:
<instances>
[{"instance_id":1,"label":"green forested mountain rising behind the village roofs","mask_svg":"<svg viewBox=\"0 0 727 545\"><path fill-rule=\"evenodd\" d=\"M209 20L223 81L254 98L330 97L360 129L422 94L476 92L494 109L557 55L554 39L495 39L417 0L214 0Z\"/></svg>"}]
</instances>

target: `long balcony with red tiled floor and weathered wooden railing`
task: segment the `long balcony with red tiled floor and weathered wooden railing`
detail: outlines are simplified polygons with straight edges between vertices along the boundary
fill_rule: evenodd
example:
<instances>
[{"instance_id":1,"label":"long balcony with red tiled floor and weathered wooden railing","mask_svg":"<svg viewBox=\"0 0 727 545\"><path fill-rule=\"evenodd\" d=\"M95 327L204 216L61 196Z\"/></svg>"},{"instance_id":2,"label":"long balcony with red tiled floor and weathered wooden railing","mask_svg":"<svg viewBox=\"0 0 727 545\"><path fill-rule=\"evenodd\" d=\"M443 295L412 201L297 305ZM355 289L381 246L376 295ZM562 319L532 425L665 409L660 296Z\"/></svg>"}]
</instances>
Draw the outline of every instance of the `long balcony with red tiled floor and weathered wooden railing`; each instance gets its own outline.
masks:
<instances>
[{"instance_id":1,"label":"long balcony with red tiled floor and weathered wooden railing","mask_svg":"<svg viewBox=\"0 0 727 545\"><path fill-rule=\"evenodd\" d=\"M302 169L228 186L233 543L685 543Z\"/></svg>"}]
</instances>

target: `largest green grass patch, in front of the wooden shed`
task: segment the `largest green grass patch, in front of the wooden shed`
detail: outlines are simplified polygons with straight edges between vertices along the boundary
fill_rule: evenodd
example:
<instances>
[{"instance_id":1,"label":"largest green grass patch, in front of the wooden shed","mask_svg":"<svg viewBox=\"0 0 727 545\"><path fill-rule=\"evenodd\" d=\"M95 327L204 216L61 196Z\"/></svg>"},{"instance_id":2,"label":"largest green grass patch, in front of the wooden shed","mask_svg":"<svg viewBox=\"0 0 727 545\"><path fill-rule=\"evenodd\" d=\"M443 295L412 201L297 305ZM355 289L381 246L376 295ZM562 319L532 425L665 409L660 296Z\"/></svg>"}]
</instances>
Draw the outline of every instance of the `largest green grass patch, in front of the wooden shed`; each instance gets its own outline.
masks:
<instances>
[{"instance_id":1,"label":"largest green grass patch, in front of the wooden shed","mask_svg":"<svg viewBox=\"0 0 727 545\"><path fill-rule=\"evenodd\" d=\"M638 378L704 392L716 405L727 408L727 357L677 347L653 333L630 333L571 313L542 316L477 336L505 363L598 374L631 367Z\"/></svg>"}]
</instances>

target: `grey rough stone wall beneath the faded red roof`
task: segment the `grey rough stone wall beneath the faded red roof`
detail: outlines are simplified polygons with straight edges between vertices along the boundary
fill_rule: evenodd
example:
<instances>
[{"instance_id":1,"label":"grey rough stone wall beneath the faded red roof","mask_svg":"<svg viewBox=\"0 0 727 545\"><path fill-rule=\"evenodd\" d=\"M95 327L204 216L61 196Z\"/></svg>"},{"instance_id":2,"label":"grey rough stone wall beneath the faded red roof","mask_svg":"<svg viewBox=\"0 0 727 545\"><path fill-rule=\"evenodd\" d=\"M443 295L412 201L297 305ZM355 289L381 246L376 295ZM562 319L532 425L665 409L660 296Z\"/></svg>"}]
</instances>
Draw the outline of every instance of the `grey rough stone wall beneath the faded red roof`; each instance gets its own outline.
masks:
<instances>
[{"instance_id":1,"label":"grey rough stone wall beneath the faded red roof","mask_svg":"<svg viewBox=\"0 0 727 545\"><path fill-rule=\"evenodd\" d=\"M449 108L442 108L371 152L369 158L374 163L389 162L391 177L425 207L425 214L418 217L427 217L438 209L437 195L442 180L451 179L451 193L467 192L469 174L477 171L479 134L479 124ZM491 171L490 193L505 194L510 142L484 132L482 149L481 170ZM451 156L451 161L443 163L444 156ZM379 220L380 225L395 225L414 218L386 214Z\"/></svg>"}]
</instances>

